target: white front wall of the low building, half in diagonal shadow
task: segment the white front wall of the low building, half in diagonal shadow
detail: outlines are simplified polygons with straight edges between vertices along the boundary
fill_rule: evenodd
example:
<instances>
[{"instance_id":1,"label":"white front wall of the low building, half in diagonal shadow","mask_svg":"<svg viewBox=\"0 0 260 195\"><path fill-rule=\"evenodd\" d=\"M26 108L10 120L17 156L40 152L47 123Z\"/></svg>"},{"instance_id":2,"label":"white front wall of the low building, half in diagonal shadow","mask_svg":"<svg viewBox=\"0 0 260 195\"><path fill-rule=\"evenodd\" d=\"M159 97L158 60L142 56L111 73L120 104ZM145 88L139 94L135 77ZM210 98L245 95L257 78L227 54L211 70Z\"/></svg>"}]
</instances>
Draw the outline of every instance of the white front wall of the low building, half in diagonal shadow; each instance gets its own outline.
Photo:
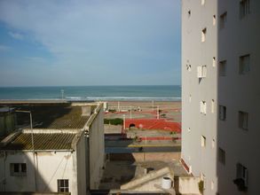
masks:
<instances>
[{"instance_id":1,"label":"white front wall of the low building, half in diagonal shadow","mask_svg":"<svg viewBox=\"0 0 260 195\"><path fill-rule=\"evenodd\" d=\"M37 152L34 164L32 152L6 152L0 158L1 191L58 191L58 179L68 179L69 191L78 194L75 160L75 152ZM10 163L26 163L27 175L12 176Z\"/></svg>"}]
</instances>

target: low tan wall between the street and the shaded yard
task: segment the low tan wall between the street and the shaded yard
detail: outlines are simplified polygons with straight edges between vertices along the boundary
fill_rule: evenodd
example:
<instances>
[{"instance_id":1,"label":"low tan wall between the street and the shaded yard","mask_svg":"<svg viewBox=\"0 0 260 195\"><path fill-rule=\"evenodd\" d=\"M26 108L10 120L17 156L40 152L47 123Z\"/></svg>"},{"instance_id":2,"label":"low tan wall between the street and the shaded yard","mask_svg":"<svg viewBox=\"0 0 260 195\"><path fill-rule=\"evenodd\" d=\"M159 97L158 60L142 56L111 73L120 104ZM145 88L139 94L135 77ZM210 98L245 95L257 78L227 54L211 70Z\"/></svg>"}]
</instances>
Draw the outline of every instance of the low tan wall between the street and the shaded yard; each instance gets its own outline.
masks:
<instances>
[{"instance_id":1,"label":"low tan wall between the street and the shaded yard","mask_svg":"<svg viewBox=\"0 0 260 195\"><path fill-rule=\"evenodd\" d=\"M132 161L169 161L180 160L180 152L134 152L134 153L109 153L108 160L132 160Z\"/></svg>"}]
</instances>

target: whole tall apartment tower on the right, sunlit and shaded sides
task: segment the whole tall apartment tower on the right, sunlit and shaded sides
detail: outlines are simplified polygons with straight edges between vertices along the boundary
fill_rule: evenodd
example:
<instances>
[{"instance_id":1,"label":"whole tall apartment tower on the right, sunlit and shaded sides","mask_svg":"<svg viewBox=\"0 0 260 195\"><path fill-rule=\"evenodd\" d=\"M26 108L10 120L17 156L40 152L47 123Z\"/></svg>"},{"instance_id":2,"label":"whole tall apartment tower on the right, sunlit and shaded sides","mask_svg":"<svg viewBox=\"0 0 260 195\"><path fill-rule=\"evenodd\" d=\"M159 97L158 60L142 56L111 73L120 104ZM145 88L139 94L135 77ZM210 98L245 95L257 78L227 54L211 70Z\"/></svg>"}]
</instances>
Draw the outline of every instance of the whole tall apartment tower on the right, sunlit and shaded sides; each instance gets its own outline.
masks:
<instances>
[{"instance_id":1,"label":"whole tall apartment tower on the right, sunlit and shaded sides","mask_svg":"<svg viewBox=\"0 0 260 195\"><path fill-rule=\"evenodd\" d=\"M204 194L260 194L259 24L258 0L182 1L182 160Z\"/></svg>"}]
</instances>

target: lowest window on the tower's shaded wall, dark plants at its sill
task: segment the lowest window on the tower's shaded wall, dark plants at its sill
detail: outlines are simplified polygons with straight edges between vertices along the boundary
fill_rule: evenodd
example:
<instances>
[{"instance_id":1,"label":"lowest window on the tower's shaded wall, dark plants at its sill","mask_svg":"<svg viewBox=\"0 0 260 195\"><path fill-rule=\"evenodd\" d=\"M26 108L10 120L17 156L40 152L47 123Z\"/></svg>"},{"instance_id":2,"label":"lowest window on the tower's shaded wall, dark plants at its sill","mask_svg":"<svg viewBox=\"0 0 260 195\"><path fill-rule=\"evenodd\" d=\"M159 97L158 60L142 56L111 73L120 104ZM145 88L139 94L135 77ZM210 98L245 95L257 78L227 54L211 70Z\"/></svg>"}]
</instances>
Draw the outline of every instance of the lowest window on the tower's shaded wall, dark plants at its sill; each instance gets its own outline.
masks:
<instances>
[{"instance_id":1,"label":"lowest window on the tower's shaded wall, dark plants at its sill","mask_svg":"<svg viewBox=\"0 0 260 195\"><path fill-rule=\"evenodd\" d=\"M239 191L247 191L248 188L248 168L244 167L240 163L237 163L237 176L233 180Z\"/></svg>"}]
</instances>

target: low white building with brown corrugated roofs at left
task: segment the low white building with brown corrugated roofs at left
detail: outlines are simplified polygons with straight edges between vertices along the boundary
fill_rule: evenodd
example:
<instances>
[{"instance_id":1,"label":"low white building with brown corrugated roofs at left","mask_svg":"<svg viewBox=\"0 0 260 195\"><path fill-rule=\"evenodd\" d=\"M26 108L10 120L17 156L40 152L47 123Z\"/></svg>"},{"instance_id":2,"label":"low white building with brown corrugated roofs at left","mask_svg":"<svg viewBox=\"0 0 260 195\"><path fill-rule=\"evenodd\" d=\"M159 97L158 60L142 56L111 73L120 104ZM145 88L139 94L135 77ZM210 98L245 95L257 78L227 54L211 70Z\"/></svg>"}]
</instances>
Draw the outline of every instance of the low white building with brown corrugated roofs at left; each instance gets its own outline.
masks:
<instances>
[{"instance_id":1,"label":"low white building with brown corrugated roofs at left","mask_svg":"<svg viewBox=\"0 0 260 195\"><path fill-rule=\"evenodd\" d=\"M81 195L98 189L105 161L103 105L31 106L34 128L17 130L0 144L0 193Z\"/></svg>"}]
</instances>

